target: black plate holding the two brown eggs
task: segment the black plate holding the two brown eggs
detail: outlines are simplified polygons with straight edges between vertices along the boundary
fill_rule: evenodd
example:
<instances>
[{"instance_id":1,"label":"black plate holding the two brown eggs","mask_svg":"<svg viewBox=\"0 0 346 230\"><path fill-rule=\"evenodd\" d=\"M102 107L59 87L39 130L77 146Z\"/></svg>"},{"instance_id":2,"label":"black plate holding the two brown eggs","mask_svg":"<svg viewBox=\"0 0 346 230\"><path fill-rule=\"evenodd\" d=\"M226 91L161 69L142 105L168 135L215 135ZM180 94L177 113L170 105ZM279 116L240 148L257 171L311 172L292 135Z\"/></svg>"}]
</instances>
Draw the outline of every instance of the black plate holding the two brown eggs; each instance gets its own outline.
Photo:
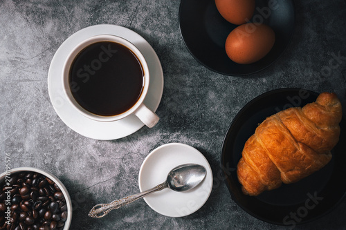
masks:
<instances>
[{"instance_id":1,"label":"black plate holding the two brown eggs","mask_svg":"<svg viewBox=\"0 0 346 230\"><path fill-rule=\"evenodd\" d=\"M270 0L257 0L254 22L271 26L275 32L275 44L271 52L253 64L237 64L226 55L225 41L237 27L226 21L215 6L214 0L181 0L179 22L186 47L203 66L224 75L249 75L273 64L291 41L295 24L293 1L277 1L275 8L266 13ZM272 1L273 2L273 1Z\"/></svg>"}]
</instances>

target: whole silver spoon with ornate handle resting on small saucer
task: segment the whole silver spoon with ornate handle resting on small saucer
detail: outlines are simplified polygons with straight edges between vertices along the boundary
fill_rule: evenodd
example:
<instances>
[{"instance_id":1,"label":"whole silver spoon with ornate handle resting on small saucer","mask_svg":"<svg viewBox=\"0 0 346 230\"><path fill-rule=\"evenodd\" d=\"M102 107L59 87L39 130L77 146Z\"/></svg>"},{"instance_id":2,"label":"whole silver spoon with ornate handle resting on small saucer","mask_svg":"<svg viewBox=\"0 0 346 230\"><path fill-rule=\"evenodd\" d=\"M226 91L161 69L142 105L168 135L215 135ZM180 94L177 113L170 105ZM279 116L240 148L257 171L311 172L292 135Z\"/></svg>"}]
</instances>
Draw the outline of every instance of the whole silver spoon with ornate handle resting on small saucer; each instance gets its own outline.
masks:
<instances>
[{"instance_id":1,"label":"whole silver spoon with ornate handle resting on small saucer","mask_svg":"<svg viewBox=\"0 0 346 230\"><path fill-rule=\"evenodd\" d=\"M206 177L206 168L199 164L182 164L176 166L167 175L167 180L162 184L154 186L152 189L143 191L142 193L137 193L135 195L129 195L125 198L119 200L114 200L109 204L96 204L89 212L89 216L93 218L102 218L107 215L109 211L113 209L119 209L125 204L129 204L143 198L145 195L154 193L156 191L161 191L165 188L170 188L174 191L188 191L197 184L201 183Z\"/></svg>"}]
</instances>

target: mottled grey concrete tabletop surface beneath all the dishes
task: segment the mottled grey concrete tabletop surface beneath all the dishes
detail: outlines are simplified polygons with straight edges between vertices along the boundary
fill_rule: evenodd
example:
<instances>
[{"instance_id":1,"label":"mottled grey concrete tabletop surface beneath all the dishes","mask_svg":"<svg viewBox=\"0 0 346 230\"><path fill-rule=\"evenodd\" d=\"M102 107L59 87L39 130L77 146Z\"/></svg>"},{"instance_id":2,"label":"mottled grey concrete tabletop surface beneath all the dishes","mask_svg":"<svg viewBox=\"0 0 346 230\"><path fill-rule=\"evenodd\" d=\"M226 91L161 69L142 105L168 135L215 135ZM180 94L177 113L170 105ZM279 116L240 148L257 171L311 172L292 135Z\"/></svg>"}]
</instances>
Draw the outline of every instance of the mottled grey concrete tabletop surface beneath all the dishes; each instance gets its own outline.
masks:
<instances>
[{"instance_id":1,"label":"mottled grey concrete tabletop surface beneath all the dishes","mask_svg":"<svg viewBox=\"0 0 346 230\"><path fill-rule=\"evenodd\" d=\"M144 200L100 220L87 213L94 204L138 192L140 164L162 144L194 146L216 175L233 117L268 90L334 91L345 113L345 59L331 75L321 73L332 53L346 56L345 1L295 1L297 24L288 50L270 68L248 77L213 73L190 55L179 32L179 3L0 1L1 157L9 152L13 168L38 167L62 180L74 204L71 229L285 229L248 215L230 199L225 184L215 184L206 204L184 218L160 215ZM49 64L60 44L100 23L125 26L147 39L161 59L165 78L160 122L114 141L91 140L72 131L56 115L47 89ZM4 171L4 164L0 169ZM345 211L343 200L320 220L297 229L345 229Z\"/></svg>"}]
</instances>

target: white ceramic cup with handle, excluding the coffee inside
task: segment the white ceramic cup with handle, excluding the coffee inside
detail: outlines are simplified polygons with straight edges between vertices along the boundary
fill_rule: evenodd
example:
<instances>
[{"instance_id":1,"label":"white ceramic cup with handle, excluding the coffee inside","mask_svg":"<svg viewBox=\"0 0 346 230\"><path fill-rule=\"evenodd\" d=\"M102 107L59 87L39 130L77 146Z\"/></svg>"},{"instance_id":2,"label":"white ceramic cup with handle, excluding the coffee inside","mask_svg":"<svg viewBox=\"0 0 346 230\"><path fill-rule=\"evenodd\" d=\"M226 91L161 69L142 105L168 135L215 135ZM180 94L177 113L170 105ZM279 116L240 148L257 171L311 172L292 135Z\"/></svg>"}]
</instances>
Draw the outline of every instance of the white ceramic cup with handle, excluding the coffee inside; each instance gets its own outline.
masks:
<instances>
[{"instance_id":1,"label":"white ceramic cup with handle, excluding the coffee inside","mask_svg":"<svg viewBox=\"0 0 346 230\"><path fill-rule=\"evenodd\" d=\"M140 61L140 64L143 68L144 77L143 77L143 90L140 94L140 97L138 98L137 102L129 108L129 110L125 111L124 113L120 113L118 115L111 115L111 116L104 116L104 115L97 115L95 113L91 113L87 111L85 108L80 106L78 102L73 97L73 94L71 93L71 87L69 83L69 73L71 69L71 65L73 64L73 61L75 60L75 57L87 46L101 42L101 41L111 41L118 44L121 44L122 46L127 47L131 52L136 55L138 60ZM75 107L75 109L80 112L85 117L88 117L90 119L94 119L99 122L113 122L119 119L123 119L125 117L128 117L129 115L136 115L146 126L149 128L152 128L157 122L159 117L154 113L153 111L149 110L147 106L145 106L144 99L147 95L147 91L149 88L149 68L147 66L147 61L145 60L145 57L142 55L140 50L134 46L134 44L131 44L131 42L127 41L126 39L123 39L121 37L117 37L115 35L97 35L94 37L90 37L89 39L86 39L78 46L76 46L67 57L65 64L64 64L64 70L62 72L62 79L63 79L63 88L64 93L66 93L67 98L69 99L69 102L71 102L72 106Z\"/></svg>"}]
</instances>

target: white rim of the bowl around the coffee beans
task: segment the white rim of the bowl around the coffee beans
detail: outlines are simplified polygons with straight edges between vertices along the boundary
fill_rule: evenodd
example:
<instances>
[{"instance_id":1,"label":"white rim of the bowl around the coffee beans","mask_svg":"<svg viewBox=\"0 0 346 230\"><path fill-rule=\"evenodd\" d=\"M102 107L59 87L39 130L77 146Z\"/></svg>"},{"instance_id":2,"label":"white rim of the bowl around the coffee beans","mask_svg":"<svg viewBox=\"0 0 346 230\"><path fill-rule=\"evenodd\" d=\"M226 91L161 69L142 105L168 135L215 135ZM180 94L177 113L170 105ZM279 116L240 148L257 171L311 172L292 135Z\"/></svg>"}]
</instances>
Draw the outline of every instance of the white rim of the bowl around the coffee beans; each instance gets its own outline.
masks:
<instances>
[{"instance_id":1,"label":"white rim of the bowl around the coffee beans","mask_svg":"<svg viewBox=\"0 0 346 230\"><path fill-rule=\"evenodd\" d=\"M62 193L64 194L64 198L66 200L67 219L65 221L64 230L68 230L70 228L70 224L71 224L71 220L72 220L72 202L71 202L69 192L67 191L64 184L62 184L62 182L59 179L57 179L57 177L55 177L55 175L53 175L52 173L48 173L46 171L43 171L42 169L35 169L32 167L21 167L21 168L11 169L10 173L12 175L13 173L19 173L19 172L23 172L23 171L32 171L35 173L41 173L42 175L45 175L47 178L53 180L53 182L55 182L55 184L57 184L57 186L59 186L59 188L62 191ZM5 178L6 178L6 172L1 173L0 174L0 183L3 182L3 180L5 180Z\"/></svg>"}]
</instances>

